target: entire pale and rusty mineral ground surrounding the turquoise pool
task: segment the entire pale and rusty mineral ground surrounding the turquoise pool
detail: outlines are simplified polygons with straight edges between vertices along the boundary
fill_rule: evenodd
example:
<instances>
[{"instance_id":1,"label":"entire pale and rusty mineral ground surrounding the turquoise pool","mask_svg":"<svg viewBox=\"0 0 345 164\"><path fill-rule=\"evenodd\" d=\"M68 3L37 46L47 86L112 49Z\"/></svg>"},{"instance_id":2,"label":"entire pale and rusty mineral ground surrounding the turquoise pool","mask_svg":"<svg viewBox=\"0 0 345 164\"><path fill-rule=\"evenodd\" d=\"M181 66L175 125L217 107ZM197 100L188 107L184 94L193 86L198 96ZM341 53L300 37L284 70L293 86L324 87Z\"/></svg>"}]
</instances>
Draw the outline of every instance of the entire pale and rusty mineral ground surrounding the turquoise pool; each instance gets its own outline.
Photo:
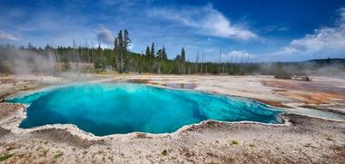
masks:
<instances>
[{"instance_id":1,"label":"entire pale and rusty mineral ground surrounding the turquoise pool","mask_svg":"<svg viewBox=\"0 0 345 164\"><path fill-rule=\"evenodd\" d=\"M270 76L90 75L0 76L0 99L64 82L142 82L241 96L287 111L282 125L203 121L173 133L97 137L74 125L20 129L25 107L0 103L4 163L343 163L345 80L312 82ZM26 86L26 87L25 87ZM308 111L308 112L307 112Z\"/></svg>"}]
</instances>

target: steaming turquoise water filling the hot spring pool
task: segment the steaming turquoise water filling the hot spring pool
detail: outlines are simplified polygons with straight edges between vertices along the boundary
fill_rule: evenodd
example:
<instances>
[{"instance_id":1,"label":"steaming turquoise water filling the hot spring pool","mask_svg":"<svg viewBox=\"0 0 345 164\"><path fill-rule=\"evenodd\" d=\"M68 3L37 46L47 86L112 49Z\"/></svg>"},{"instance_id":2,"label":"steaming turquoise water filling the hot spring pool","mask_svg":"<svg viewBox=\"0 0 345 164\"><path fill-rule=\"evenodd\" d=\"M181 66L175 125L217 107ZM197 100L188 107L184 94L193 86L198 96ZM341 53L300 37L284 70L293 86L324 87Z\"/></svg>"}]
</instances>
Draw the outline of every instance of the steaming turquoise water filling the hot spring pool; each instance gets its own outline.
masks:
<instances>
[{"instance_id":1,"label":"steaming turquoise water filling the hot spring pool","mask_svg":"<svg viewBox=\"0 0 345 164\"><path fill-rule=\"evenodd\" d=\"M72 123L97 136L173 132L208 119L280 123L280 111L259 102L135 83L74 84L7 101L30 104L21 128Z\"/></svg>"}]
</instances>

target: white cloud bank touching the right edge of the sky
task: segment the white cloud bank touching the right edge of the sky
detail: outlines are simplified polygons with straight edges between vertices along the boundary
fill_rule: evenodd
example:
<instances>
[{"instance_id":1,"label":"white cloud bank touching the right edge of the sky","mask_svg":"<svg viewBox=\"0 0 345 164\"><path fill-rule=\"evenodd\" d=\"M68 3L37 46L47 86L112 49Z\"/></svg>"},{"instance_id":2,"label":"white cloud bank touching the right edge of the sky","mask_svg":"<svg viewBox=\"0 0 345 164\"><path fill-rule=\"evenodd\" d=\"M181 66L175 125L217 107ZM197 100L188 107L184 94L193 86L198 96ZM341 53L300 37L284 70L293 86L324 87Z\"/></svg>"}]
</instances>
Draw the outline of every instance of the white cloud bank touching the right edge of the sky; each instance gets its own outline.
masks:
<instances>
[{"instance_id":1,"label":"white cloud bank touching the right edge of the sky","mask_svg":"<svg viewBox=\"0 0 345 164\"><path fill-rule=\"evenodd\" d=\"M294 39L275 54L339 52L345 50L345 8L340 9L340 18L333 27L323 27Z\"/></svg>"}]
</instances>

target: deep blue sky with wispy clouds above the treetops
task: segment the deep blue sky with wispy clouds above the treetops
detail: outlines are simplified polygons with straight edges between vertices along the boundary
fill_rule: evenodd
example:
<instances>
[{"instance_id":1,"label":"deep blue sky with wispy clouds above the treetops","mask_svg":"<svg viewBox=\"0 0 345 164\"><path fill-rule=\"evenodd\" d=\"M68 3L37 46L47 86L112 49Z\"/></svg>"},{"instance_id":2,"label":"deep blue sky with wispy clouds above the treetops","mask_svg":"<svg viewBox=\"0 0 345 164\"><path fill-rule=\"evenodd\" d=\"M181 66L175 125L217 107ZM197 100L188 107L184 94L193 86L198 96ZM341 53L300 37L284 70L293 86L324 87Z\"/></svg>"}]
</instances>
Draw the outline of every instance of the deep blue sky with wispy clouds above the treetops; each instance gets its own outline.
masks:
<instances>
[{"instance_id":1,"label":"deep blue sky with wispy clouds above the treetops","mask_svg":"<svg viewBox=\"0 0 345 164\"><path fill-rule=\"evenodd\" d=\"M1 0L0 43L103 46L128 29L133 52L166 47L169 58L250 57L255 62L345 57L345 1L340 0Z\"/></svg>"}]
</instances>

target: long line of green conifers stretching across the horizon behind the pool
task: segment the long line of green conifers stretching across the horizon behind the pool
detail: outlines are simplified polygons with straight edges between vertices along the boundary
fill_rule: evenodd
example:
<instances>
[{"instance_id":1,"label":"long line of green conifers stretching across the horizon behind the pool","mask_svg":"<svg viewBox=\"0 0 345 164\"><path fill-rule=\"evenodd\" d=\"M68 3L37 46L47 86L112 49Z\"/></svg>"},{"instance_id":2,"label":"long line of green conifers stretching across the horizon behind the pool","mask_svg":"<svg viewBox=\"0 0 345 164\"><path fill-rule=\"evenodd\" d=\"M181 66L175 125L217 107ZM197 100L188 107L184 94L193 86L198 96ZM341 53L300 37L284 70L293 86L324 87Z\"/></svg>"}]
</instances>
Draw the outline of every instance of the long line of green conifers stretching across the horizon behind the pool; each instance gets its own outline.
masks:
<instances>
[{"instance_id":1,"label":"long line of green conifers stretching across the horizon behind the pool","mask_svg":"<svg viewBox=\"0 0 345 164\"><path fill-rule=\"evenodd\" d=\"M250 63L248 58L242 56L241 62L211 63L203 61L199 53L193 62L186 60L186 52L182 47L181 53L175 58L169 59L164 45L155 47L154 43L147 45L145 53L133 53L129 50L131 39L127 30L120 30L113 41L113 49L102 48L101 43L97 47L88 46L58 46L56 48L47 44L45 47L35 47L31 43L27 47L15 47L10 44L0 45L0 69L5 70L5 53L9 50L34 53L34 55L52 55L56 72L134 72L134 73L163 73L163 74L272 74L282 67L293 65L293 69L299 72L303 64L295 63ZM158 50L156 50L158 49ZM8 56L8 55L7 55ZM269 66L268 66L269 65ZM273 66L272 66L273 65ZM291 66L292 67L292 66ZM277 71L278 70L278 71ZM290 69L291 70L291 69Z\"/></svg>"}]
</instances>

